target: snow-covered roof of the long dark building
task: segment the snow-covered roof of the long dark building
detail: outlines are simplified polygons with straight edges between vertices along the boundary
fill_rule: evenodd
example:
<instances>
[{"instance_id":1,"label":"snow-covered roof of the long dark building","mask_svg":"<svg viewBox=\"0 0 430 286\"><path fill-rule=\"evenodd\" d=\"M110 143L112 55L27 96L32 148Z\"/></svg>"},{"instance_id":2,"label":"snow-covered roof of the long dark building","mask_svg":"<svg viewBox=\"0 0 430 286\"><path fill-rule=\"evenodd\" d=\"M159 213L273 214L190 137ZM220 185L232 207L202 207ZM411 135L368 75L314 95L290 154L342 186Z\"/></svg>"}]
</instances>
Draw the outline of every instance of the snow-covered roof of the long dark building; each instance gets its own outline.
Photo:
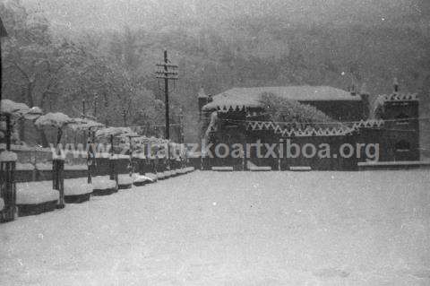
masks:
<instances>
[{"instance_id":1,"label":"snow-covered roof of the long dark building","mask_svg":"<svg viewBox=\"0 0 430 286\"><path fill-rule=\"evenodd\" d=\"M348 91L342 91L330 86L280 86L280 87L254 87L234 88L213 96L211 103L203 110L228 108L258 108L262 106L262 94L268 92L287 100L297 101L360 101L359 96L352 96Z\"/></svg>"}]
</instances>

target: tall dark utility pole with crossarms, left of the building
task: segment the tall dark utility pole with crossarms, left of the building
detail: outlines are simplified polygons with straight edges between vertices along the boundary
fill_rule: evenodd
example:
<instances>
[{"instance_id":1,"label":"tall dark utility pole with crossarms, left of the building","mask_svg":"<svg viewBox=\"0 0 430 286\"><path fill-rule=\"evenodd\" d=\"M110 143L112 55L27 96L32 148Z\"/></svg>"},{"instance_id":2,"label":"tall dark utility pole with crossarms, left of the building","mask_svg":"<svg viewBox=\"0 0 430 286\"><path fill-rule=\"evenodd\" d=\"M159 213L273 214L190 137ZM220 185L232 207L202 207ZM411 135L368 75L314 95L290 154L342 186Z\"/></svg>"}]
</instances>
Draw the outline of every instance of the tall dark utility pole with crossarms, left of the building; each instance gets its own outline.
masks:
<instances>
[{"instance_id":1,"label":"tall dark utility pole with crossarms, left of the building","mask_svg":"<svg viewBox=\"0 0 430 286\"><path fill-rule=\"evenodd\" d=\"M158 64L157 66L161 68L161 70L155 72L157 74L157 78L160 80L164 80L164 96L165 96L165 108L166 108L166 139L170 139L170 117L169 117L169 106L168 106L168 82L176 81L177 78L177 65L169 64L168 60L168 51L164 51L164 63Z\"/></svg>"}]
</instances>

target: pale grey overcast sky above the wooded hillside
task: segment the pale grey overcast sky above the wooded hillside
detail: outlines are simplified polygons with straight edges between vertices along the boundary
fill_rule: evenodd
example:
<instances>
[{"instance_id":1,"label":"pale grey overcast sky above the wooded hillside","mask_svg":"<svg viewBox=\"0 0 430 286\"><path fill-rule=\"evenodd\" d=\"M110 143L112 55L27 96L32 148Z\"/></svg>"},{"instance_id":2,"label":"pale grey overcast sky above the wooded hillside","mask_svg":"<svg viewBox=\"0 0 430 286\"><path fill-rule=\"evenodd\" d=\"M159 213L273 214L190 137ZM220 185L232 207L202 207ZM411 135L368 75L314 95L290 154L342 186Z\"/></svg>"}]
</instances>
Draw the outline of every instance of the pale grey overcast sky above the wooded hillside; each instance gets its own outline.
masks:
<instances>
[{"instance_id":1,"label":"pale grey overcast sky above the wooded hillside","mask_svg":"<svg viewBox=\"0 0 430 286\"><path fill-rule=\"evenodd\" d=\"M153 28L187 20L216 25L241 16L289 22L361 21L428 13L430 0L22 0L72 30ZM426 5L426 7L424 7Z\"/></svg>"}]
</instances>

